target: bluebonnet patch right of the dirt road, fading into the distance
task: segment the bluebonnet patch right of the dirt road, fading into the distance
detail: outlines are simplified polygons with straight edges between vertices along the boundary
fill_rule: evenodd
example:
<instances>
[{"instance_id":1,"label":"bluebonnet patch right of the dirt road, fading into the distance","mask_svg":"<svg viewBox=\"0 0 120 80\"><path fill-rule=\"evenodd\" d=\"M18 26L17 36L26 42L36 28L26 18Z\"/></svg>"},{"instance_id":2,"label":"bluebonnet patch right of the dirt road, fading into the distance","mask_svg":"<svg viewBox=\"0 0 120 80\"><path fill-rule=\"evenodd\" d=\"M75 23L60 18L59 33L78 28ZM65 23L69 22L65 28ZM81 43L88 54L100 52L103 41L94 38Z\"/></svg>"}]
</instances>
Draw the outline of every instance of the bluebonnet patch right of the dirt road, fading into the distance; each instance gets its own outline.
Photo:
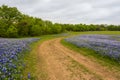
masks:
<instances>
[{"instance_id":1,"label":"bluebonnet patch right of the dirt road, fading into the distance","mask_svg":"<svg viewBox=\"0 0 120 80\"><path fill-rule=\"evenodd\" d=\"M65 39L81 48L89 48L102 56L120 60L120 36L118 35L79 35Z\"/></svg>"}]
</instances>

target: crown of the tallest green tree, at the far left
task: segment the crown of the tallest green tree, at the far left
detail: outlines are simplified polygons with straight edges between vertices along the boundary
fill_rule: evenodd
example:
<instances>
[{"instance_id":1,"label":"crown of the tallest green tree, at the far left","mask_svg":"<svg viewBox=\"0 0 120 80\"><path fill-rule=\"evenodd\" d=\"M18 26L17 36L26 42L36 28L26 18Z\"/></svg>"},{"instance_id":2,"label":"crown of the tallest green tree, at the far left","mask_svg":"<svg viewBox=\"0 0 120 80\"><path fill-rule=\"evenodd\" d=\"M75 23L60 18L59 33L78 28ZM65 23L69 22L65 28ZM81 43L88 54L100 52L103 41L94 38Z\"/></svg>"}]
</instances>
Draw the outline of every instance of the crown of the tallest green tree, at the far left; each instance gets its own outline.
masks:
<instances>
[{"instance_id":1,"label":"crown of the tallest green tree, at the far left","mask_svg":"<svg viewBox=\"0 0 120 80\"><path fill-rule=\"evenodd\" d=\"M2 7L0 7L0 19L4 19L9 26L13 23L18 23L19 20L22 19L22 14L16 7L2 5Z\"/></svg>"}]
</instances>

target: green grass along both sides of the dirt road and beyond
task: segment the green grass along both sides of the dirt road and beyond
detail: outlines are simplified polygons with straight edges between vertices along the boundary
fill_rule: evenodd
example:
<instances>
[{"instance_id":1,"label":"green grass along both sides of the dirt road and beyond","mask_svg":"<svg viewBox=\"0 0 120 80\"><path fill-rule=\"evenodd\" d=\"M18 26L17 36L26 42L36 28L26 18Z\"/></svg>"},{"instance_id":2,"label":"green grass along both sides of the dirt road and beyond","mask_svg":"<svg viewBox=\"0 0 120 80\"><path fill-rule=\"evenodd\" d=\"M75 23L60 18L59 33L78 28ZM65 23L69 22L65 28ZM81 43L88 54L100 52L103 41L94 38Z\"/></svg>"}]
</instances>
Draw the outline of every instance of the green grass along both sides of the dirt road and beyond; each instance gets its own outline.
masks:
<instances>
[{"instance_id":1,"label":"green grass along both sides of the dirt road and beyond","mask_svg":"<svg viewBox=\"0 0 120 80\"><path fill-rule=\"evenodd\" d=\"M40 41L31 44L31 52L27 53L24 61L26 63L26 68L23 71L23 74L25 77L27 77L28 73L31 73L31 76L33 76L33 80L36 80L35 77L37 76L36 72L36 65L39 61L39 63L41 63L41 65L44 65L44 61L43 59L39 59L38 58L38 47L40 46L40 44L44 41L50 40L50 39L54 39L54 38L59 38L59 37L71 37L71 36L75 36L75 35L83 35L83 34L114 34L114 35L120 35L120 31L94 31L94 32L67 32L64 34L57 34L57 35L44 35L44 36L40 36ZM87 56L88 58L99 62L101 65L103 66L107 66L109 69L116 69L116 70L120 70L119 66L120 64L118 62L116 62L115 60L112 60L109 57L103 57L101 55L96 54L94 51L89 50L89 49L85 49L85 48L78 48L77 46L70 44L64 40L61 41L61 44L63 44L64 46L66 46L67 48L79 52L84 56ZM44 70L44 68L41 66L41 80L46 80L48 74L46 73L46 71Z\"/></svg>"}]
</instances>

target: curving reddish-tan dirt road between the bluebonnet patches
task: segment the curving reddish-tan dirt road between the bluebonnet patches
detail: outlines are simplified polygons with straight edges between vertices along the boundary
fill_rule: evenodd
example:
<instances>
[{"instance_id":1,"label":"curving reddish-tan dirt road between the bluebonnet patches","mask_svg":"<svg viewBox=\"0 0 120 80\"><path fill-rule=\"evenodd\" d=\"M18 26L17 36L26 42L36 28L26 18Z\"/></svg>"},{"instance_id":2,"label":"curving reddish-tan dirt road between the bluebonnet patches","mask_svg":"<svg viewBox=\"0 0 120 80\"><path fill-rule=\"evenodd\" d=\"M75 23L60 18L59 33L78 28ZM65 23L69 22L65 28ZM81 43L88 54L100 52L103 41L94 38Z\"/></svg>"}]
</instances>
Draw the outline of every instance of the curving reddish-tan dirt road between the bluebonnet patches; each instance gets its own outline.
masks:
<instances>
[{"instance_id":1,"label":"curving reddish-tan dirt road between the bluebonnet patches","mask_svg":"<svg viewBox=\"0 0 120 80\"><path fill-rule=\"evenodd\" d=\"M112 71L61 45L62 38L43 42L38 49L38 80L119 80ZM39 68L40 67L40 68ZM41 78L41 67L46 78Z\"/></svg>"}]
</instances>

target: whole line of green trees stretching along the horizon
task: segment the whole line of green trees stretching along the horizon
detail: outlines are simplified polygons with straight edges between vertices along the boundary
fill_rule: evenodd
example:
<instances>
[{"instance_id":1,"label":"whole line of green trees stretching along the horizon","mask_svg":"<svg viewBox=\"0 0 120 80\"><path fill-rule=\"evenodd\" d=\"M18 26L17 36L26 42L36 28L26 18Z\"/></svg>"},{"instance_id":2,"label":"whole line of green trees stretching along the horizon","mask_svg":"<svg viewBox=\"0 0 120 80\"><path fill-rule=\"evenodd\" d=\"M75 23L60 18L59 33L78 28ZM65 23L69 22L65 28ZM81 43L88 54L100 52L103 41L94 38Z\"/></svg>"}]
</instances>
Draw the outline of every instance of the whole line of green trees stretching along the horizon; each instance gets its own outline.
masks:
<instances>
[{"instance_id":1,"label":"whole line of green trees stretching along the horizon","mask_svg":"<svg viewBox=\"0 0 120 80\"><path fill-rule=\"evenodd\" d=\"M59 24L22 14L16 7L0 7L0 37L29 37L65 31L120 31L120 25Z\"/></svg>"}]
</instances>

